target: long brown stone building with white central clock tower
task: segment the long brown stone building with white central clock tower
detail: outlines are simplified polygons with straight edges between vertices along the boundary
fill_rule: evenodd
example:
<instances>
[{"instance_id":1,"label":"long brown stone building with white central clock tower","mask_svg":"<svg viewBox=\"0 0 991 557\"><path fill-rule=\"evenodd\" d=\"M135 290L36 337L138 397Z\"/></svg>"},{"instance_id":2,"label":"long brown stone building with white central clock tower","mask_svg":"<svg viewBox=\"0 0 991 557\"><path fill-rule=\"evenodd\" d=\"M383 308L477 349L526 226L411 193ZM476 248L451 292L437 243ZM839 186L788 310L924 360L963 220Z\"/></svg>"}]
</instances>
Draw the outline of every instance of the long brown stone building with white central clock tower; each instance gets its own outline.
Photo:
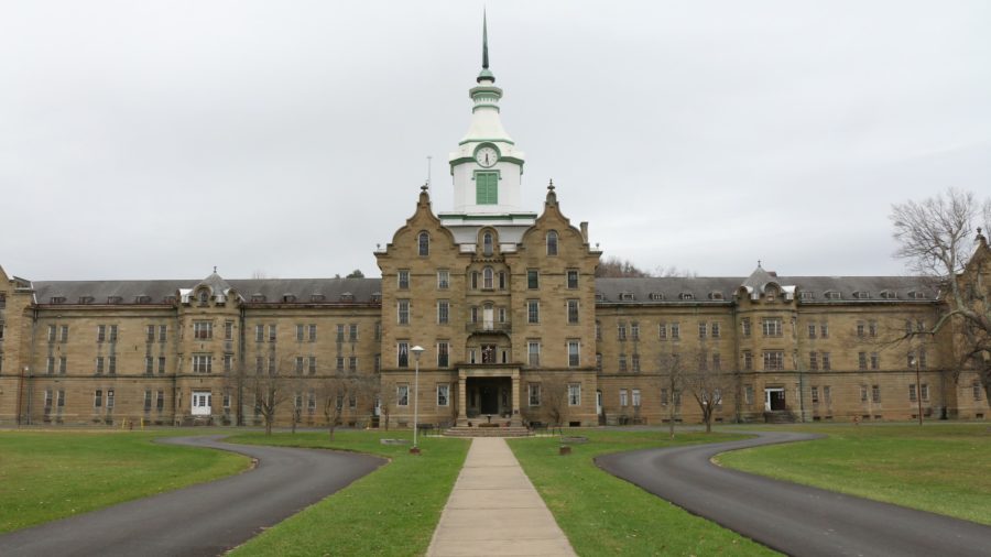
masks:
<instances>
[{"instance_id":1,"label":"long brown stone building with white central clock tower","mask_svg":"<svg viewBox=\"0 0 991 557\"><path fill-rule=\"evenodd\" d=\"M923 278L760 264L597 278L588 225L553 185L541 212L521 206L525 155L487 51L469 96L453 210L422 188L375 252L381 278L28 281L0 267L0 423L252 425L266 397L282 425L322 425L331 406L355 425L405 426L414 407L460 426L693 423L700 405L673 381L693 374L715 378L717 422L988 415L952 328L897 341L946 313Z\"/></svg>"}]
</instances>

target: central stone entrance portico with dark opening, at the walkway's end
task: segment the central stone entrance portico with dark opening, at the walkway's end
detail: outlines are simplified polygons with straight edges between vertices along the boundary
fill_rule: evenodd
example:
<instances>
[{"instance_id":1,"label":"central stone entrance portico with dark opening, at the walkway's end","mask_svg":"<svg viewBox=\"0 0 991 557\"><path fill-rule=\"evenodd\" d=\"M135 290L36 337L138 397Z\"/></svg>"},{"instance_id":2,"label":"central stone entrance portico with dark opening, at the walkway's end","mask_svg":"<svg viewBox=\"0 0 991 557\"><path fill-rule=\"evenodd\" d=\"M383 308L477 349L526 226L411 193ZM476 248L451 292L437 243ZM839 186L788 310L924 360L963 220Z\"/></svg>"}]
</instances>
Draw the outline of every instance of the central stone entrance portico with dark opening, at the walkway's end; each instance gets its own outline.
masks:
<instances>
[{"instance_id":1,"label":"central stone entrance portico with dark opening, at the walkway's end","mask_svg":"<svg viewBox=\"0 0 991 557\"><path fill-rule=\"evenodd\" d=\"M469 422L511 422L520 417L520 368L513 365L465 365L458 369L458 426Z\"/></svg>"}]
</instances>

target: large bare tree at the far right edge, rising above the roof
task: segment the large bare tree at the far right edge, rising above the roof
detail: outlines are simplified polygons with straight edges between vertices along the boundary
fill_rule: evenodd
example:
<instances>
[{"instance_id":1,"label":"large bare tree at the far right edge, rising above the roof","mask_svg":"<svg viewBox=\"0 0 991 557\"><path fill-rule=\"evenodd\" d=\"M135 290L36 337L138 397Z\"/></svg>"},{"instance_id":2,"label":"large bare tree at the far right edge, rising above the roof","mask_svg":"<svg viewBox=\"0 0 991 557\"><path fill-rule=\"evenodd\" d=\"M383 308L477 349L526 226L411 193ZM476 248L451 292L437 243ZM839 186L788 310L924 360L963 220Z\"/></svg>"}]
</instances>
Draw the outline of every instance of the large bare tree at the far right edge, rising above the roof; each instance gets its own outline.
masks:
<instances>
[{"instance_id":1,"label":"large bare tree at the far right edge, rising above the roof","mask_svg":"<svg viewBox=\"0 0 991 557\"><path fill-rule=\"evenodd\" d=\"M987 231L991 225L991 198L979 201L972 193L949 188L922 201L895 204L890 218L899 242L895 256L929 277L946 302L932 328L906 329L904 336L932 337L949 328L959 365L974 370L991 397L991 249L978 227L983 222Z\"/></svg>"}]
</instances>

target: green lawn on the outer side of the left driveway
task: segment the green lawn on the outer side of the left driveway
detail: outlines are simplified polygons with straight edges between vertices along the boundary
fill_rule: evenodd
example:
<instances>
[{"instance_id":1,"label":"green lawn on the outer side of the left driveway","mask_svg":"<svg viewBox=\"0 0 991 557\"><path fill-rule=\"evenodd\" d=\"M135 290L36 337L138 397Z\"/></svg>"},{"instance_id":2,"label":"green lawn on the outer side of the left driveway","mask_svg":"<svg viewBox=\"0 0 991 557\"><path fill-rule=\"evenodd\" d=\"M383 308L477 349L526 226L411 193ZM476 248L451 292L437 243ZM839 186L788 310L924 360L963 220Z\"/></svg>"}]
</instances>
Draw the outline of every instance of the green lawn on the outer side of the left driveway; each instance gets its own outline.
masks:
<instances>
[{"instance_id":1,"label":"green lawn on the outer side of the left driveway","mask_svg":"<svg viewBox=\"0 0 991 557\"><path fill-rule=\"evenodd\" d=\"M251 466L152 443L189 432L0 432L0 533L200 483Z\"/></svg>"}]
</instances>

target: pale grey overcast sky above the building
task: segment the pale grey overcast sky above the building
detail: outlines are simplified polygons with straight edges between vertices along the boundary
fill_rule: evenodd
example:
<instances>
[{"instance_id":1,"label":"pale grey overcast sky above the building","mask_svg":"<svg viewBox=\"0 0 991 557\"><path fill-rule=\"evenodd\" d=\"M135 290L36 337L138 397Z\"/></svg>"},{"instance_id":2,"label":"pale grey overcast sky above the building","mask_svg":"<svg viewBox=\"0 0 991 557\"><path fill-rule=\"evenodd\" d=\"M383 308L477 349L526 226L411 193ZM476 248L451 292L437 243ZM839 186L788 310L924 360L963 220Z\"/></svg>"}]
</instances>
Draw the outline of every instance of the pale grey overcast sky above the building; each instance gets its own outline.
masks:
<instances>
[{"instance_id":1,"label":"pale grey overcast sky above the building","mask_svg":"<svg viewBox=\"0 0 991 557\"><path fill-rule=\"evenodd\" d=\"M641 267L904 274L892 203L991 194L991 2L492 1L502 119ZM0 3L0 265L378 276L468 128L482 3Z\"/></svg>"}]
</instances>

